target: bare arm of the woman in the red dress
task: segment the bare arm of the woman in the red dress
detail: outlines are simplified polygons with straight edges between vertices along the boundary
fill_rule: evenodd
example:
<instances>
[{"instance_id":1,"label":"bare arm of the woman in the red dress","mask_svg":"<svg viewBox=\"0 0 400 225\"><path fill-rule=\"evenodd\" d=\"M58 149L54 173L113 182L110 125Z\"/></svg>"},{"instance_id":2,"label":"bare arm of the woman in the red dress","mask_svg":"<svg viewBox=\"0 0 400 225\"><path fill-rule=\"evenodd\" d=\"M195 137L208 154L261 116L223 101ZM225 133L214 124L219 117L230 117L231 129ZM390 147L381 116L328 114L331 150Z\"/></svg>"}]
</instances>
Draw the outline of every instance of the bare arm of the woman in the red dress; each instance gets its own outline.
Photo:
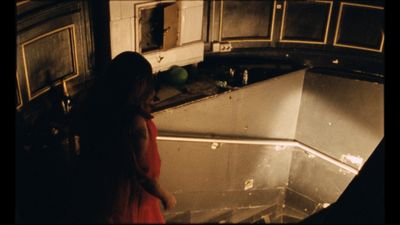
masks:
<instances>
[{"instance_id":1,"label":"bare arm of the woman in the red dress","mask_svg":"<svg viewBox=\"0 0 400 225\"><path fill-rule=\"evenodd\" d=\"M149 132L146 121L141 116L136 116L133 120L132 134L134 141L134 151L137 163L143 171L147 172L148 165L146 164L146 150L149 141ZM167 190L161 187L158 179L151 179L145 175L141 176L140 182L142 187L150 194L159 198L165 209L171 209L176 204L175 197Z\"/></svg>"}]
</instances>

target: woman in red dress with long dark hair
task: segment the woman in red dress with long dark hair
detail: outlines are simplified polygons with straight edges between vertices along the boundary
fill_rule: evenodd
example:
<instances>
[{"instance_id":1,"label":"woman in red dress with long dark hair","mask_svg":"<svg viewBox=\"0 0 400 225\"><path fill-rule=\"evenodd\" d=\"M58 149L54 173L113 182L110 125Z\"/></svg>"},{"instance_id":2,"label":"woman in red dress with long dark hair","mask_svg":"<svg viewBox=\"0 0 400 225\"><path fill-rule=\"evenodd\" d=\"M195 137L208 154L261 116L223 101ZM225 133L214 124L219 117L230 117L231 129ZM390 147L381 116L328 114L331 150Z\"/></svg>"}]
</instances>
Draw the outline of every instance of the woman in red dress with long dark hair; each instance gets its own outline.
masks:
<instances>
[{"instance_id":1,"label":"woman in red dress with long dark hair","mask_svg":"<svg viewBox=\"0 0 400 225\"><path fill-rule=\"evenodd\" d=\"M158 181L153 98L151 65L135 52L115 57L94 85L82 120L79 222L165 223L159 200L170 209L176 199Z\"/></svg>"}]
</instances>

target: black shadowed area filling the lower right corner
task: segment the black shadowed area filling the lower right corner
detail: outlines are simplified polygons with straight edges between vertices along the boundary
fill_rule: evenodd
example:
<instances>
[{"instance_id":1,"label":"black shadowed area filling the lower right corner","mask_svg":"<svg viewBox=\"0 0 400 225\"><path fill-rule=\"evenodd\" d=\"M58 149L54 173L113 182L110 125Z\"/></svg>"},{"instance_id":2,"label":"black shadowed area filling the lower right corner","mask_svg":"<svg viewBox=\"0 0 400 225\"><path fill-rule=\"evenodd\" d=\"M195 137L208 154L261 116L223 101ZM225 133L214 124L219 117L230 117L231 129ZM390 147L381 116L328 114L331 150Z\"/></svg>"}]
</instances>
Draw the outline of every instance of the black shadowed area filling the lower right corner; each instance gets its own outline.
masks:
<instances>
[{"instance_id":1,"label":"black shadowed area filling the lower right corner","mask_svg":"<svg viewBox=\"0 0 400 225\"><path fill-rule=\"evenodd\" d=\"M310 216L302 224L384 224L383 139L336 203Z\"/></svg>"}]
</instances>

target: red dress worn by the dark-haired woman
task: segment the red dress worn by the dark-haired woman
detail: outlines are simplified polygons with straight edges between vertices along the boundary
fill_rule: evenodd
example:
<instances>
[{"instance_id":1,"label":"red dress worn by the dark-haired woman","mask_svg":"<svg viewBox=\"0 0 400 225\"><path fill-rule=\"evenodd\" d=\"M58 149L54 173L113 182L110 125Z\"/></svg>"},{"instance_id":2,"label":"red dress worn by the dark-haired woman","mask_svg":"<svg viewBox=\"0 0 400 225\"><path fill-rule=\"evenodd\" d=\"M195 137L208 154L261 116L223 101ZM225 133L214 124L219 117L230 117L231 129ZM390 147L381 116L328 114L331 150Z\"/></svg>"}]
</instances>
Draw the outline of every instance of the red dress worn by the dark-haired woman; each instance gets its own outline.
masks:
<instances>
[{"instance_id":1,"label":"red dress worn by the dark-haired woman","mask_svg":"<svg viewBox=\"0 0 400 225\"><path fill-rule=\"evenodd\" d=\"M146 162L149 167L147 176L158 178L160 176L161 160L157 148L157 128L151 119L146 120L149 131L149 142L146 149ZM161 213L160 200L143 190L141 205L138 207L137 198L133 204L132 221L134 223L165 223Z\"/></svg>"}]
</instances>

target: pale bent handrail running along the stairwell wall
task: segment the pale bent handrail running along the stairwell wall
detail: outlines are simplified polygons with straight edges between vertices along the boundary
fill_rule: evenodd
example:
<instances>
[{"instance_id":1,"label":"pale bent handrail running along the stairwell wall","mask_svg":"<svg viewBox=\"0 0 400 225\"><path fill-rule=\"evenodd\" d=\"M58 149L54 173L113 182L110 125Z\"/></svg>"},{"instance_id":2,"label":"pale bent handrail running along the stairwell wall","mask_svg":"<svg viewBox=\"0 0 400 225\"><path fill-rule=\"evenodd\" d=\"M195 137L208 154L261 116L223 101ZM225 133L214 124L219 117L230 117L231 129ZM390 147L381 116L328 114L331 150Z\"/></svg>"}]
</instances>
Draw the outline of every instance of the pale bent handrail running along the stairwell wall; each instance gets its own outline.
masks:
<instances>
[{"instance_id":1,"label":"pale bent handrail running along the stairwell wall","mask_svg":"<svg viewBox=\"0 0 400 225\"><path fill-rule=\"evenodd\" d=\"M203 137L178 137L178 136L158 136L157 140L160 141L184 141L184 142L206 142L206 143L224 143L224 144L245 144L245 145L279 145L287 147L298 147L305 152L317 156L329 163L347 170L355 175L358 174L358 169L349 166L325 153L318 151L310 146L307 146L296 140L279 140L279 139L227 139L227 138L203 138Z\"/></svg>"}]
</instances>

